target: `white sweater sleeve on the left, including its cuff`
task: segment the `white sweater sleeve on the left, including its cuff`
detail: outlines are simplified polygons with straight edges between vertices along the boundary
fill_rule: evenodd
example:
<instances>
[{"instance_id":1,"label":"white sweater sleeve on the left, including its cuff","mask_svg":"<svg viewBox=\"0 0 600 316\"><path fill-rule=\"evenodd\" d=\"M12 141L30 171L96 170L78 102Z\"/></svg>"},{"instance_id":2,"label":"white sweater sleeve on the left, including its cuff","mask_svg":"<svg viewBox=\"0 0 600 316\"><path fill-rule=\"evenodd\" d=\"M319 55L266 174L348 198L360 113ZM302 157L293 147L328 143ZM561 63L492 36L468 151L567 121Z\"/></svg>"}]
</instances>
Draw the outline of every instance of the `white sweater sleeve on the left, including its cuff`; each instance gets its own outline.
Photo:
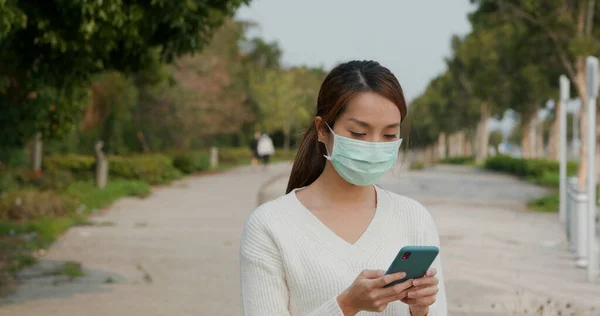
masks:
<instances>
[{"instance_id":1,"label":"white sweater sleeve on the left, including its cuff","mask_svg":"<svg viewBox=\"0 0 600 316\"><path fill-rule=\"evenodd\" d=\"M290 295L281 253L261 216L251 215L242 234L240 271L245 316L289 316ZM344 316L333 297L309 316Z\"/></svg>"}]
</instances>

